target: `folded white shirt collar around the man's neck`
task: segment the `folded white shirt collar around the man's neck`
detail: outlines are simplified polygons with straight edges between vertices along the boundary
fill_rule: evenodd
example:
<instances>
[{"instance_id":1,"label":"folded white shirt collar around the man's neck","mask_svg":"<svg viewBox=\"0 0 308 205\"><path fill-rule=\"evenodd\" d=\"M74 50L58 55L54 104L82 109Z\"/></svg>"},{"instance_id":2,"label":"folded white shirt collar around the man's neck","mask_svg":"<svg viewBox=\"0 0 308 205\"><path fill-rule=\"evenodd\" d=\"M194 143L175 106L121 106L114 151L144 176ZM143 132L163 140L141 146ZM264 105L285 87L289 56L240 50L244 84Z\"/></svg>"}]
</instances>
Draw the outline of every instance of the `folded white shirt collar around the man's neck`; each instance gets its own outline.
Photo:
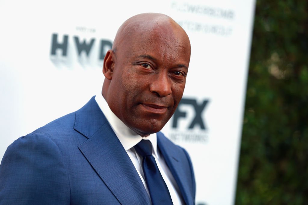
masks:
<instances>
[{"instance_id":1,"label":"folded white shirt collar around the man's neck","mask_svg":"<svg viewBox=\"0 0 308 205\"><path fill-rule=\"evenodd\" d=\"M138 135L131 128L126 126L124 122L122 122L109 108L109 105L102 94L98 94L95 96L95 101L98 104L99 108L107 118L113 132L119 138L121 144L123 145L125 150L129 150L134 147L141 140L150 140L152 143L153 155L157 154L157 135L156 133L150 134L149 136L142 137Z\"/></svg>"}]
</instances>

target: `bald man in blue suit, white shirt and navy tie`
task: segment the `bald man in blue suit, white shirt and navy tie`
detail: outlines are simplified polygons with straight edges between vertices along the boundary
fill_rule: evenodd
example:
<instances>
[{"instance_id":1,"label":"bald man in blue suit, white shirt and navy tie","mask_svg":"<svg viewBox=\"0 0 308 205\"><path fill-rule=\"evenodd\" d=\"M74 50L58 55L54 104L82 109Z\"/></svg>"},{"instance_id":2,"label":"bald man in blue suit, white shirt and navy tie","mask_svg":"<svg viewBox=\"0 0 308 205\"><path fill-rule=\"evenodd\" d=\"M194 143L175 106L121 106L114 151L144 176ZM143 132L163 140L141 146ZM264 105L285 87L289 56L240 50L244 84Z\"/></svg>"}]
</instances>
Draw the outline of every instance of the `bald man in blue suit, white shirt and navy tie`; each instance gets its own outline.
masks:
<instances>
[{"instance_id":1,"label":"bald man in blue suit, white shirt and navy tie","mask_svg":"<svg viewBox=\"0 0 308 205\"><path fill-rule=\"evenodd\" d=\"M189 156L159 132L183 95L189 60L188 36L170 17L124 22L104 58L102 94L8 147L0 204L193 204Z\"/></svg>"}]
</instances>

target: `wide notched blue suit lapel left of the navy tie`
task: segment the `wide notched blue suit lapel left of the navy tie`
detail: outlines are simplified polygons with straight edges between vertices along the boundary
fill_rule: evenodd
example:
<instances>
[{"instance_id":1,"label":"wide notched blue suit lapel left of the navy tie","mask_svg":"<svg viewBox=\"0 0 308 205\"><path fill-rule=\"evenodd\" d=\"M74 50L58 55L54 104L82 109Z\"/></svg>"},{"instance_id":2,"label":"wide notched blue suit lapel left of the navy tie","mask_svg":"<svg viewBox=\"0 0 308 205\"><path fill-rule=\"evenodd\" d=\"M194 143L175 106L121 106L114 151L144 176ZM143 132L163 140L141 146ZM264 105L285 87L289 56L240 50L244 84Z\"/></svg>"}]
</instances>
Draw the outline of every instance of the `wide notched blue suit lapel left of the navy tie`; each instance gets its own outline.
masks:
<instances>
[{"instance_id":1,"label":"wide notched blue suit lapel left of the navy tie","mask_svg":"<svg viewBox=\"0 0 308 205\"><path fill-rule=\"evenodd\" d=\"M94 98L76 112L75 129L89 138L79 145L121 204L150 204L144 185Z\"/></svg>"}]
</instances>

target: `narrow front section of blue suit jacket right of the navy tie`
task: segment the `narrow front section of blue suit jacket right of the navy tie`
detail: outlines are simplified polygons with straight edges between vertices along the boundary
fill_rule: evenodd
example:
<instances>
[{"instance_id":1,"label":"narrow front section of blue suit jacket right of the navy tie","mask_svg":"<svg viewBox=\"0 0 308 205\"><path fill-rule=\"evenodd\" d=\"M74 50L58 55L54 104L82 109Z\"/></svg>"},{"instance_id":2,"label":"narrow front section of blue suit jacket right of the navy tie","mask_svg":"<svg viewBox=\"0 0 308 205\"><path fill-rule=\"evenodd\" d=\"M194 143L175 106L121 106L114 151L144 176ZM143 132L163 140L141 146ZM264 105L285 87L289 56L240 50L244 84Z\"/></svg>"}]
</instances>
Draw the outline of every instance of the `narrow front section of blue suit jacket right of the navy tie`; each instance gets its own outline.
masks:
<instances>
[{"instance_id":1,"label":"narrow front section of blue suit jacket right of the navy tie","mask_svg":"<svg viewBox=\"0 0 308 205\"><path fill-rule=\"evenodd\" d=\"M187 157L184 156L185 160L183 160L183 156L179 156L180 153L184 154L184 152L182 150L179 152L180 148L168 140L161 132L157 133L157 145L180 188L185 203L188 205L194 204L190 182L193 179L189 175Z\"/></svg>"}]
</instances>

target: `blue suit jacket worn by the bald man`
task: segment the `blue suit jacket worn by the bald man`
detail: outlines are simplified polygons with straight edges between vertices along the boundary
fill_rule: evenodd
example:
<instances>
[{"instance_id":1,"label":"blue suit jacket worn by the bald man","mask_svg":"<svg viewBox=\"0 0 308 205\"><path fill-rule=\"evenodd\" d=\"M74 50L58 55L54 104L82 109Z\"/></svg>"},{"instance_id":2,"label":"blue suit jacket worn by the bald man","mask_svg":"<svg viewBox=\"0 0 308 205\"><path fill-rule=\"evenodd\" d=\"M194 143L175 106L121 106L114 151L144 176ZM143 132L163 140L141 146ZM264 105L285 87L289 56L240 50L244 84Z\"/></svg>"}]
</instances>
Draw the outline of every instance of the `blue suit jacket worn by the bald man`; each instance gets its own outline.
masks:
<instances>
[{"instance_id":1,"label":"blue suit jacket worn by the bald man","mask_svg":"<svg viewBox=\"0 0 308 205\"><path fill-rule=\"evenodd\" d=\"M186 204L195 179L187 152L157 133ZM15 140L0 166L0 204L150 204L144 185L94 97Z\"/></svg>"}]
</instances>

